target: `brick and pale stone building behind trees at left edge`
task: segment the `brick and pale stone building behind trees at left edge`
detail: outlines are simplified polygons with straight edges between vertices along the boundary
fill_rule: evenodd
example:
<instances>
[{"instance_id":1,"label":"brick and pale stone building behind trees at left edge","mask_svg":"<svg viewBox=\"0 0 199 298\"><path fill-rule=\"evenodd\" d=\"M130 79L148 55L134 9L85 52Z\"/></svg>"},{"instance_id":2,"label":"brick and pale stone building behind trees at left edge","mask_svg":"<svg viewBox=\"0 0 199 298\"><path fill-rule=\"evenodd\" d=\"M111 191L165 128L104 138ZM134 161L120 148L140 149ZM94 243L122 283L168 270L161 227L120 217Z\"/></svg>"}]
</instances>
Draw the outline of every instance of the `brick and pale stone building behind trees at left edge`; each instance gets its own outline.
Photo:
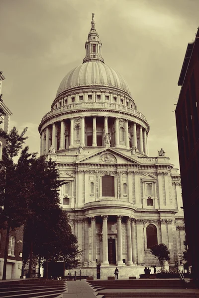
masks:
<instances>
[{"instance_id":1,"label":"brick and pale stone building behind trees at left edge","mask_svg":"<svg viewBox=\"0 0 199 298\"><path fill-rule=\"evenodd\" d=\"M2 81L5 79L0 72L0 106L5 112L5 115L0 115L0 128L5 132L9 130L9 118L12 115L11 111L2 100ZM2 149L6 145L5 140L0 138L0 160L2 158ZM2 279L4 249L5 249L6 230L0 229L0 279ZM23 227L16 228L15 231L9 233L9 246L6 266L6 279L20 278L22 268L22 241Z\"/></svg>"}]
</instances>

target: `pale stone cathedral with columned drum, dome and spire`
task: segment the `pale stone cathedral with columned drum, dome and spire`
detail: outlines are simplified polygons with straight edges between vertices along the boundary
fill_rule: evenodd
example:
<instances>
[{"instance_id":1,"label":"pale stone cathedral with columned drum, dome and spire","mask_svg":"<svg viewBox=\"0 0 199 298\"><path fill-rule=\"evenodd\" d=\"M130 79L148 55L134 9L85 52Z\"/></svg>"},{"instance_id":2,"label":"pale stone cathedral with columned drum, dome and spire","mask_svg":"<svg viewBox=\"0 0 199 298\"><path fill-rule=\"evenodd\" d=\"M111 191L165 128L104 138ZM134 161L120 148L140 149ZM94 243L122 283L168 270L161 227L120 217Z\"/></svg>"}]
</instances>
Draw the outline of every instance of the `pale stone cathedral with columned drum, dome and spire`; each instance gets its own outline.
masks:
<instances>
[{"instance_id":1,"label":"pale stone cathedral with columned drum, dome and spire","mask_svg":"<svg viewBox=\"0 0 199 298\"><path fill-rule=\"evenodd\" d=\"M128 84L102 57L94 14L83 64L61 81L39 125L40 154L56 162L60 204L82 251L82 275L139 276L159 266L150 247L164 243L170 266L185 240L181 179L163 149L149 156L149 124ZM158 269L158 268L157 268Z\"/></svg>"}]
</instances>

